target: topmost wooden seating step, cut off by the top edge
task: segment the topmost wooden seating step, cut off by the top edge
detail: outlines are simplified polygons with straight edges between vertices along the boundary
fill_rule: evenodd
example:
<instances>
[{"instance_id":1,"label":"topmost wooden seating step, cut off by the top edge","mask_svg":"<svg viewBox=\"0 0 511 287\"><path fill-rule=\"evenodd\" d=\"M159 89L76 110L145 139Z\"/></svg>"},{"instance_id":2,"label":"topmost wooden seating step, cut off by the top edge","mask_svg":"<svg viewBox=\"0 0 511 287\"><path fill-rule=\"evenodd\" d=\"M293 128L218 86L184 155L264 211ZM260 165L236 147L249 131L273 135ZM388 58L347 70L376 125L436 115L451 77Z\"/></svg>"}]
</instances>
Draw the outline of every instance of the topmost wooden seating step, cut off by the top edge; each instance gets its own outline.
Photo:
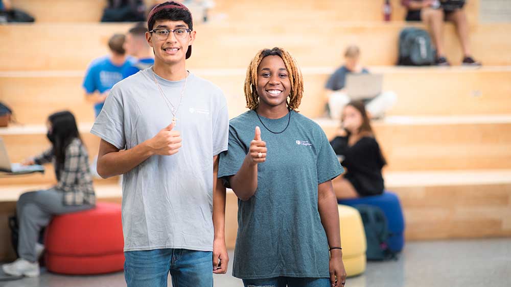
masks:
<instances>
[{"instance_id":1,"label":"topmost wooden seating step, cut off by the top edge","mask_svg":"<svg viewBox=\"0 0 511 287\"><path fill-rule=\"evenodd\" d=\"M145 1L149 9L154 1ZM51 4L51 7L50 7ZM337 21L382 21L383 1L377 0L328 0L328 1L250 1L250 0L216 0L216 6L210 11L210 20L261 19L272 17L285 20L329 19ZM401 0L391 0L392 21L402 21L405 8ZM37 22L98 22L101 19L105 0L16 0L14 6L32 14ZM261 7L274 7L274 10L259 12ZM258 9L259 8L259 9ZM192 9L192 8L191 8ZM276 11L276 12L273 12ZM477 23L479 18L479 0L470 0L465 8L470 23ZM199 20L195 11L194 18Z\"/></svg>"}]
</instances>

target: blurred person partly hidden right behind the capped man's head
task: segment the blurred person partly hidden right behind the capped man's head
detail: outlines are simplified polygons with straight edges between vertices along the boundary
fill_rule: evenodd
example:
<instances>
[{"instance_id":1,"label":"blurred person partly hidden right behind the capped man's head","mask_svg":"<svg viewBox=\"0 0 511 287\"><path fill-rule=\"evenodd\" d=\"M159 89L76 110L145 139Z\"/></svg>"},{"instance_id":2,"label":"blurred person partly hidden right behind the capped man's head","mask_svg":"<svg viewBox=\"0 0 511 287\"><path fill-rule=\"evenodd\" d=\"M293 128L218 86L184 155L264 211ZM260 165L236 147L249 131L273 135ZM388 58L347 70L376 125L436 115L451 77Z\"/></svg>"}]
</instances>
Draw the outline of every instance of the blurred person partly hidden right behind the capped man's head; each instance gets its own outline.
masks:
<instances>
[{"instance_id":1,"label":"blurred person partly hidden right behind the capped man's head","mask_svg":"<svg viewBox=\"0 0 511 287\"><path fill-rule=\"evenodd\" d=\"M147 28L145 23L136 24L126 34L124 49L126 54L132 56L133 63L124 67L123 79L136 74L140 70L145 70L154 64L153 51L147 44Z\"/></svg>"}]
</instances>

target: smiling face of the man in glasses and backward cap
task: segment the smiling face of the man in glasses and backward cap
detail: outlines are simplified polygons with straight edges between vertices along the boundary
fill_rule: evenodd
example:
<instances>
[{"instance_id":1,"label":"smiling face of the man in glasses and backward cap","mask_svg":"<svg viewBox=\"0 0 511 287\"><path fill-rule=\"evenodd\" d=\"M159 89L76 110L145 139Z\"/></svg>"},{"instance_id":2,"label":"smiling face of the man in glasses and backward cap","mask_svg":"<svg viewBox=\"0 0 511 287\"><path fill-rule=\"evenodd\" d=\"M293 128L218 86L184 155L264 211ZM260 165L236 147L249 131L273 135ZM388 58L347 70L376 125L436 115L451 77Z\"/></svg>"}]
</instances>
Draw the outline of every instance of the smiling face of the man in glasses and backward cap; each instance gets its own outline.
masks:
<instances>
[{"instance_id":1,"label":"smiling face of the man in glasses and backward cap","mask_svg":"<svg viewBox=\"0 0 511 287\"><path fill-rule=\"evenodd\" d=\"M189 27L182 20L158 20L152 27L153 30L175 30L179 28L188 29ZM149 43L149 46L151 46L154 50L155 62L164 62L165 64L170 65L184 61L188 51L188 46L192 45L193 41L195 40L195 33L195 31L192 31L188 33L188 35L183 39L176 38L172 32L169 33L167 39L158 39L155 33L147 33L147 42Z\"/></svg>"}]
</instances>

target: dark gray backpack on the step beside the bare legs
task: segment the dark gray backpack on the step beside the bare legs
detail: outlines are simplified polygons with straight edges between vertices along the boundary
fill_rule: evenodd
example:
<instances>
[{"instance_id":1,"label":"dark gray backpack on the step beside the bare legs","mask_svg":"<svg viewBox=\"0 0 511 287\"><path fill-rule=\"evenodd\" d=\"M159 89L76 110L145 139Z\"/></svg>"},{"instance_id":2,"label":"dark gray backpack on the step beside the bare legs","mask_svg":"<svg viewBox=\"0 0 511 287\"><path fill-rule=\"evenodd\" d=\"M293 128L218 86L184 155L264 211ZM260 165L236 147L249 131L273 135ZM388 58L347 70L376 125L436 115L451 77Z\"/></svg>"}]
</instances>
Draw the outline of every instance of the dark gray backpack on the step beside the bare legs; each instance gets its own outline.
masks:
<instances>
[{"instance_id":1,"label":"dark gray backpack on the step beside the bare legs","mask_svg":"<svg viewBox=\"0 0 511 287\"><path fill-rule=\"evenodd\" d=\"M399 34L398 65L429 66L434 62L431 38L427 31L405 28Z\"/></svg>"}]
</instances>

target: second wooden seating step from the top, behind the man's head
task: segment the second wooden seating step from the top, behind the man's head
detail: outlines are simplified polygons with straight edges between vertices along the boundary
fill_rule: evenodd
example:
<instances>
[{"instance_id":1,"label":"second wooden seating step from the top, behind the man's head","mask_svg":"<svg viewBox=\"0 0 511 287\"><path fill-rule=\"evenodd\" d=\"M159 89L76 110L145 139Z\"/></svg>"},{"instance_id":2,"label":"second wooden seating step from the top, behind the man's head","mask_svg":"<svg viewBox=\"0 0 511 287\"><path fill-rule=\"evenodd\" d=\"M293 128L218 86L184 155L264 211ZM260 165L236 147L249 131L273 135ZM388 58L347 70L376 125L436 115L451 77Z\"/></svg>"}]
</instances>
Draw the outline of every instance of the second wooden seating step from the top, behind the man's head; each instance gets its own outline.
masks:
<instances>
[{"instance_id":1,"label":"second wooden seating step from the top, behind the man's head","mask_svg":"<svg viewBox=\"0 0 511 287\"><path fill-rule=\"evenodd\" d=\"M360 46L365 65L394 65L399 32L405 27L407 24L403 22L336 22L327 30L317 30L305 23L286 29L265 23L198 25L188 67L246 68L259 49L273 46L288 49L301 67L331 66L341 62L342 51L349 44ZM0 26L0 38L5 39L0 44L0 71L85 70L90 61L108 53L106 43L113 33L125 33L129 28L130 24L105 23ZM471 27L473 55L484 65L511 65L511 38L500 36L509 29L509 23ZM87 39L82 37L85 31L89 35ZM314 41L307 40L311 33ZM37 43L37 49L27 44L27 37L30 43ZM451 24L446 25L445 38L447 58L458 65L461 49Z\"/></svg>"}]
</instances>

